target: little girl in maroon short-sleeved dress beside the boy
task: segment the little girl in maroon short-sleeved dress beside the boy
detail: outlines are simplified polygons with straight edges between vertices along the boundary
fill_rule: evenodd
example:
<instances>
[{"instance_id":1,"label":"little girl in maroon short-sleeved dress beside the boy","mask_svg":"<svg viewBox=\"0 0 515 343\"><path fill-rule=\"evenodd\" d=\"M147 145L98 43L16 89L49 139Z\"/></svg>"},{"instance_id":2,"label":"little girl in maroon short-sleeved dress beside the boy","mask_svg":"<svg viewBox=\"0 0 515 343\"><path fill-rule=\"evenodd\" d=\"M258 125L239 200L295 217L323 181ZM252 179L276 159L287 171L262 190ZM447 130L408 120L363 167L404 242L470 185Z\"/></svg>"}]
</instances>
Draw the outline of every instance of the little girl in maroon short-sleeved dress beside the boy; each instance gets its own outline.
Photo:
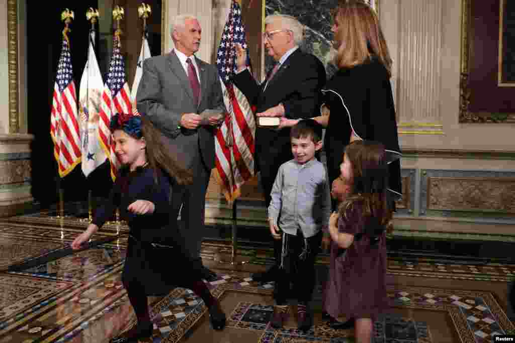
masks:
<instances>
[{"instance_id":1,"label":"little girl in maroon short-sleeved dress beside the boy","mask_svg":"<svg viewBox=\"0 0 515 343\"><path fill-rule=\"evenodd\" d=\"M387 160L381 143L356 140L347 146L340 177L351 192L329 220L331 265L324 310L333 318L355 318L357 342L370 342L373 321L388 303L385 229L392 209Z\"/></svg>"}]
</instances>

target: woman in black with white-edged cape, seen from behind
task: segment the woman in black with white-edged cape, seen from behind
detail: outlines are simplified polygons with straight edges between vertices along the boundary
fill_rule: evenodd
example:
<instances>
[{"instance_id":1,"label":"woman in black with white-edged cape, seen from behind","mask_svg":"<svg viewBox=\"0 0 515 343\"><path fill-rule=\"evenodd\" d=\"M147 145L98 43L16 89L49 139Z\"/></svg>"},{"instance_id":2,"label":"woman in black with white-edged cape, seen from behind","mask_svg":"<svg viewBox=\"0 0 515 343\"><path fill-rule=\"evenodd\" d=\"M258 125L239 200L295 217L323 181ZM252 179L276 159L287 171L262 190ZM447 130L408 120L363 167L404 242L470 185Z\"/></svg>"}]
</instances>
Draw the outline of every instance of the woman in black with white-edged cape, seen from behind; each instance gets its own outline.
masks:
<instances>
[{"instance_id":1,"label":"woman in black with white-edged cape, seen from behind","mask_svg":"<svg viewBox=\"0 0 515 343\"><path fill-rule=\"evenodd\" d=\"M401 149L390 84L390 54L379 18L363 1L340 1L333 12L336 74L322 88L328 116L324 149L329 182L340 174L345 147L354 140L381 142L388 156L389 193L402 197Z\"/></svg>"}]
</instances>

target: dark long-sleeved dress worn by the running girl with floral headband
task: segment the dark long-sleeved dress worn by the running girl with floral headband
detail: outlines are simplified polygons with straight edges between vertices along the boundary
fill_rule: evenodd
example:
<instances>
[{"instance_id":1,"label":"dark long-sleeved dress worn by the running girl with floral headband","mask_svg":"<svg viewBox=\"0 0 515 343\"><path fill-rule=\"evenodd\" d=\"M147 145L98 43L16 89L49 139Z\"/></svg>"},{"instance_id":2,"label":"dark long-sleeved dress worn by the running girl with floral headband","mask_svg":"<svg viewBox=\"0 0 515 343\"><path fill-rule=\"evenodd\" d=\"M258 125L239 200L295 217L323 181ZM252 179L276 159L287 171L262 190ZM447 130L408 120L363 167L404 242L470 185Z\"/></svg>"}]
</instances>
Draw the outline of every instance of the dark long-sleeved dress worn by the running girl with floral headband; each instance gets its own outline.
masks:
<instances>
[{"instance_id":1,"label":"dark long-sleeved dress worn by the running girl with floral headband","mask_svg":"<svg viewBox=\"0 0 515 343\"><path fill-rule=\"evenodd\" d=\"M101 227L118 207L130 228L123 283L138 282L146 295L166 295L176 286L201 280L200 263L185 250L177 220L170 220L170 179L161 171L139 167L121 170L109 201L95 213L93 223ZM157 177L157 182L155 177ZM172 182L173 184L173 182ZM127 207L136 200L155 205L152 214L133 214Z\"/></svg>"}]
</instances>

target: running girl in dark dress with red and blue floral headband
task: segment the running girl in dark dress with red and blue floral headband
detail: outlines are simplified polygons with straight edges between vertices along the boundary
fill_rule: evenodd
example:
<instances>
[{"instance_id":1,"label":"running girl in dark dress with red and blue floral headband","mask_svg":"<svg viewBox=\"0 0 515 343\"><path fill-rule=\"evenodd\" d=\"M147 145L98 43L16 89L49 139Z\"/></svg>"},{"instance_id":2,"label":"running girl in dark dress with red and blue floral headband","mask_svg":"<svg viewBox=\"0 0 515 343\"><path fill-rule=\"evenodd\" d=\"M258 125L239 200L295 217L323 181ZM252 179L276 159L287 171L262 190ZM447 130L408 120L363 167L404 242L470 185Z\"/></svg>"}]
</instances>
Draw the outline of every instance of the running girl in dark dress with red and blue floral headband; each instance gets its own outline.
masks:
<instances>
[{"instance_id":1,"label":"running girl in dark dress with red and blue floral headband","mask_svg":"<svg viewBox=\"0 0 515 343\"><path fill-rule=\"evenodd\" d=\"M177 229L177 219L170 218L170 189L192 182L177 158L161 146L161 133L144 116L116 114L110 129L115 153L122 167L109 195L109 201L95 213L92 223L72 243L81 248L93 233L119 208L130 231L122 282L134 309L138 324L113 343L131 343L149 339L153 324L147 296L163 296L175 287L193 290L208 306L214 329L223 329L226 316L218 300L202 281L201 264L185 250ZM174 268L164 261L173 261Z\"/></svg>"}]
</instances>

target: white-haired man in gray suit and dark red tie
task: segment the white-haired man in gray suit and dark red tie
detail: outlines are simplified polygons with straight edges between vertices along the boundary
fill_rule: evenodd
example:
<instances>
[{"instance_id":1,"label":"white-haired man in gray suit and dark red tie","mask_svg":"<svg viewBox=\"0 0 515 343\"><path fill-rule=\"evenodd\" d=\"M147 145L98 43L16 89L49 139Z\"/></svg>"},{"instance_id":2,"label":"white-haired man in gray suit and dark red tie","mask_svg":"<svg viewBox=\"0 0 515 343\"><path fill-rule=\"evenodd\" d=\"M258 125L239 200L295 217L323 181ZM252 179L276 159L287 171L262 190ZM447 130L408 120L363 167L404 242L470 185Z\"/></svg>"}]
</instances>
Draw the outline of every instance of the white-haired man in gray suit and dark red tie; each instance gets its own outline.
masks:
<instances>
[{"instance_id":1,"label":"white-haired man in gray suit and dark red tie","mask_svg":"<svg viewBox=\"0 0 515 343\"><path fill-rule=\"evenodd\" d=\"M194 56L201 39L196 17L177 16L170 34L175 49L143 62L136 100L138 111L164 134L165 146L194 173L192 185L174 186L171 215L177 218L182 205L183 236L193 257L200 259L205 193L215 165L214 133L226 110L218 70ZM205 267L203 276L216 279Z\"/></svg>"}]
</instances>

